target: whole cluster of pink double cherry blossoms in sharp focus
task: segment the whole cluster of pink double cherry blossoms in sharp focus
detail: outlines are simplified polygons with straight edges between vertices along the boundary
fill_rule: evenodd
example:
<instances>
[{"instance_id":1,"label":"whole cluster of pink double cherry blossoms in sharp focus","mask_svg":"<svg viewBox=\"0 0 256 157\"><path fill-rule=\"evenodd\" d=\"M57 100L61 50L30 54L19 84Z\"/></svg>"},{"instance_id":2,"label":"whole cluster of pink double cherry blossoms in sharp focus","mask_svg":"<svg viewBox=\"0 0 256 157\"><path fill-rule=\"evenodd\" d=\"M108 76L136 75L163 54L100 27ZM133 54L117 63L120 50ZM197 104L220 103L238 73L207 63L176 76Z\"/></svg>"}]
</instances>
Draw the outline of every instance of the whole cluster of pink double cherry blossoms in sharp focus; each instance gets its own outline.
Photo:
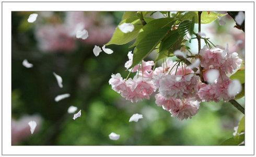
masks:
<instances>
[{"instance_id":1,"label":"whole cluster of pink double cherry blossoms in sharp focus","mask_svg":"<svg viewBox=\"0 0 256 157\"><path fill-rule=\"evenodd\" d=\"M156 104L179 120L194 116L202 101L234 99L234 95L228 92L232 80L226 74L232 73L242 62L237 53L228 51L228 46L226 49L221 46L214 49L204 47L198 55L204 71L205 81L202 82L199 70L194 72L191 66L182 61L172 62L167 58L161 66L154 69L153 61L142 61L131 68L132 52L128 53L128 57L125 68L130 73L137 74L133 79L123 79L120 74L112 75L109 80L112 89L133 103L149 99L151 94L158 91L155 95Z\"/></svg>"}]
</instances>

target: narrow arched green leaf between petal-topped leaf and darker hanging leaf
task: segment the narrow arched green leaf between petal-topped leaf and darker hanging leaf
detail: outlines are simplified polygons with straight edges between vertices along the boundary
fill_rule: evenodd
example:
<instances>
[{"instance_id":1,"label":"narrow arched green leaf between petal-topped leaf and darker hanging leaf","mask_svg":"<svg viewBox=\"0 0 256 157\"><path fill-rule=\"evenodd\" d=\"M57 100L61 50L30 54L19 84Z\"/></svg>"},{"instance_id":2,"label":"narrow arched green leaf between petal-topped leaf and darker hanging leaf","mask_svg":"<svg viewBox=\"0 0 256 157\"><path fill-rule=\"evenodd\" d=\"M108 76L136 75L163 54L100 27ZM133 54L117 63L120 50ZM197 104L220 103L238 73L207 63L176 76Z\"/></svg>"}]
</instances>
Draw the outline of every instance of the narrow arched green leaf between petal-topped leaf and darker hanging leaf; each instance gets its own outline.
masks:
<instances>
[{"instance_id":1,"label":"narrow arched green leaf between petal-topped leaf and darker hanging leaf","mask_svg":"<svg viewBox=\"0 0 256 157\"><path fill-rule=\"evenodd\" d=\"M145 25L142 29L143 31L139 32L136 41L131 46L129 46L129 48L136 46L139 43L139 41L141 41L149 32L156 31L165 26L171 27L173 23L173 18L160 18L147 22L147 25Z\"/></svg>"}]
</instances>

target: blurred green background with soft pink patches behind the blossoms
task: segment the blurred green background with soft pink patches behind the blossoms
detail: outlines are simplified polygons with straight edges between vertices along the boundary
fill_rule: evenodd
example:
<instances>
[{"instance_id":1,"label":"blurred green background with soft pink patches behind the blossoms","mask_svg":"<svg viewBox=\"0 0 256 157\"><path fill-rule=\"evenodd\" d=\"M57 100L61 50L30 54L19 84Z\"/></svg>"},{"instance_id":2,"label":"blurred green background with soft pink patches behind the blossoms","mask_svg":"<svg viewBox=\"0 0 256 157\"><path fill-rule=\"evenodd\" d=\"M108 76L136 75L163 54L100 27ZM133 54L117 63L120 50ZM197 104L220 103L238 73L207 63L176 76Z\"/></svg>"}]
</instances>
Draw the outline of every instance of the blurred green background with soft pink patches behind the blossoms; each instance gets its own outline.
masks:
<instances>
[{"instance_id":1,"label":"blurred green background with soft pink patches behind the blossoms","mask_svg":"<svg viewBox=\"0 0 256 157\"><path fill-rule=\"evenodd\" d=\"M79 16L78 13L39 12L37 21L28 23L30 14L13 12L11 17L13 145L219 145L232 137L243 115L229 103L201 103L199 113L180 121L158 107L154 95L150 100L131 103L111 89L108 83L111 74L120 73L124 78L128 74L124 63L128 60L129 46L110 45L114 53L101 52L98 57L92 49L109 41L122 11L80 12ZM88 41L77 40L67 33L66 26L72 28L74 21L79 20L86 23L91 36ZM239 38L244 40L243 32L233 25L234 20L227 18L223 27L216 20L202 30L213 40L215 34L216 44L222 40L234 43L239 33L242 34ZM49 46L52 43L64 47ZM242 50L243 46L237 50L241 58ZM22 66L24 59L33 67ZM53 72L62 76L63 88L57 85ZM55 102L55 96L63 93L71 96ZM244 104L244 98L239 102ZM82 116L76 120L72 119L73 114L67 113L71 105L82 110ZM135 113L143 114L144 118L129 123ZM32 119L36 119L38 126L30 135L27 123ZM111 132L120 134L120 139L110 140Z\"/></svg>"}]
</instances>

